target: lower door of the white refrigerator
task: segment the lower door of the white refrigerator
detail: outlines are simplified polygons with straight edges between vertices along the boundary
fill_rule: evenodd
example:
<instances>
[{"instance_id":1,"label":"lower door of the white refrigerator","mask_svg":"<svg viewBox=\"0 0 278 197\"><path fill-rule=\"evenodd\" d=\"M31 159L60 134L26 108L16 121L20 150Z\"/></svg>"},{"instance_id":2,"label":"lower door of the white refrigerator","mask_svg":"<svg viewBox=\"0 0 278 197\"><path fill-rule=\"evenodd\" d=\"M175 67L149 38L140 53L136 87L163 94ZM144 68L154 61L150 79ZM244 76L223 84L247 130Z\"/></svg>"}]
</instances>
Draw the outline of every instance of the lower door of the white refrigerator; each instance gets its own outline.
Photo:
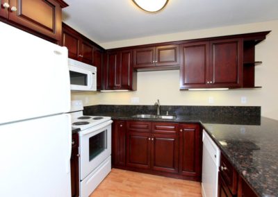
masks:
<instances>
[{"instance_id":1,"label":"lower door of the white refrigerator","mask_svg":"<svg viewBox=\"0 0 278 197\"><path fill-rule=\"evenodd\" d=\"M0 126L0 196L71 196L70 115Z\"/></svg>"}]
</instances>

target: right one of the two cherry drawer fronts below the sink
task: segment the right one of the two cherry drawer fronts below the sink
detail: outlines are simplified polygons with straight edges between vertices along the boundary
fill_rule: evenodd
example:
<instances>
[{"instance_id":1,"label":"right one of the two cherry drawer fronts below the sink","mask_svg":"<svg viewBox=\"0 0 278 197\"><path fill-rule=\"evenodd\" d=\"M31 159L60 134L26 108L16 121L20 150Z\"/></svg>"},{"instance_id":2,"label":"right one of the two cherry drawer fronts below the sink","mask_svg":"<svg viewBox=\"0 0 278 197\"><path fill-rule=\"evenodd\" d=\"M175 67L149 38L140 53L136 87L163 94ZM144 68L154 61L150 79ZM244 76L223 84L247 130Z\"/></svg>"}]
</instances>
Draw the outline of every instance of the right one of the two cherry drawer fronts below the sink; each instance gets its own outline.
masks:
<instances>
[{"instance_id":1,"label":"right one of the two cherry drawer fronts below the sink","mask_svg":"<svg viewBox=\"0 0 278 197\"><path fill-rule=\"evenodd\" d=\"M179 129L178 123L153 123L152 132L160 134L177 134Z\"/></svg>"}]
</instances>

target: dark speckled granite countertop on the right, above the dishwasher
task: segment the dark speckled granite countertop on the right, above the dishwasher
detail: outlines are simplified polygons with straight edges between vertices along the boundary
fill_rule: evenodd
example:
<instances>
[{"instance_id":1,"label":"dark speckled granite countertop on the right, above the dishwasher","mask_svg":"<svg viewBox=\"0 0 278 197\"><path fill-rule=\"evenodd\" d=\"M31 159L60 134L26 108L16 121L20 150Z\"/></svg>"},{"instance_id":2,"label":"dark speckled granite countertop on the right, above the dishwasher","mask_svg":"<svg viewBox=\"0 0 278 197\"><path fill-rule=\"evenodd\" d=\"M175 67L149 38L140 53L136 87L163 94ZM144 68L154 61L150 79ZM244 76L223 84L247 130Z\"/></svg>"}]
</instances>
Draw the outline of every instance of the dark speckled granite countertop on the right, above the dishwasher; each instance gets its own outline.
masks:
<instances>
[{"instance_id":1,"label":"dark speckled granite countertop on the right, above the dishwasher","mask_svg":"<svg viewBox=\"0 0 278 197\"><path fill-rule=\"evenodd\" d=\"M278 196L278 121L260 125L203 123L222 153L259 196Z\"/></svg>"}]
</instances>

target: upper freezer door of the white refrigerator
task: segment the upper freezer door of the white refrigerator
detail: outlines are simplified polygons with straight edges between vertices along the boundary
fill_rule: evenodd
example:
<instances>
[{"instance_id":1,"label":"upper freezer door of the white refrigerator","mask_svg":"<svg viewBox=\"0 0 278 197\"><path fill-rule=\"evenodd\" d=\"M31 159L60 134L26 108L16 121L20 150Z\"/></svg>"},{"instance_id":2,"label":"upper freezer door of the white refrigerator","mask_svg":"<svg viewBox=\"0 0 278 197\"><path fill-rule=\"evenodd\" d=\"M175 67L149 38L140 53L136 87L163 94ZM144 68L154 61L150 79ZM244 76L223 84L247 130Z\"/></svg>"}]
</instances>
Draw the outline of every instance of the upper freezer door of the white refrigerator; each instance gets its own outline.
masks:
<instances>
[{"instance_id":1,"label":"upper freezer door of the white refrigerator","mask_svg":"<svg viewBox=\"0 0 278 197\"><path fill-rule=\"evenodd\" d=\"M0 32L0 124L69 112L67 48L2 22Z\"/></svg>"}]
</instances>

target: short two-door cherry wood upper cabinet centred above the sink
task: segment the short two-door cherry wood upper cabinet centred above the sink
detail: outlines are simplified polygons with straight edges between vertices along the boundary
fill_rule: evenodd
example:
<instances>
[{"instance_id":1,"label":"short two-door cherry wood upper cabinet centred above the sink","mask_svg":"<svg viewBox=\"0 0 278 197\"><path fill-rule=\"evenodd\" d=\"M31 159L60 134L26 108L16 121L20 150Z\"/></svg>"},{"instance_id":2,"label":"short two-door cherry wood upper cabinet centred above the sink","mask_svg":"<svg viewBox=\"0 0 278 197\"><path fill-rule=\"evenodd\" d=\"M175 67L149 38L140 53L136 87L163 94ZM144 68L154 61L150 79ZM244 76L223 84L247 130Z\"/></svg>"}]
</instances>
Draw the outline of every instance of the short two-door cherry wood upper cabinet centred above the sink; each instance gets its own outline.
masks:
<instances>
[{"instance_id":1,"label":"short two-door cherry wood upper cabinet centred above the sink","mask_svg":"<svg viewBox=\"0 0 278 197\"><path fill-rule=\"evenodd\" d=\"M171 69L180 64L179 44L138 48L133 53L133 67L138 70Z\"/></svg>"}]
</instances>

